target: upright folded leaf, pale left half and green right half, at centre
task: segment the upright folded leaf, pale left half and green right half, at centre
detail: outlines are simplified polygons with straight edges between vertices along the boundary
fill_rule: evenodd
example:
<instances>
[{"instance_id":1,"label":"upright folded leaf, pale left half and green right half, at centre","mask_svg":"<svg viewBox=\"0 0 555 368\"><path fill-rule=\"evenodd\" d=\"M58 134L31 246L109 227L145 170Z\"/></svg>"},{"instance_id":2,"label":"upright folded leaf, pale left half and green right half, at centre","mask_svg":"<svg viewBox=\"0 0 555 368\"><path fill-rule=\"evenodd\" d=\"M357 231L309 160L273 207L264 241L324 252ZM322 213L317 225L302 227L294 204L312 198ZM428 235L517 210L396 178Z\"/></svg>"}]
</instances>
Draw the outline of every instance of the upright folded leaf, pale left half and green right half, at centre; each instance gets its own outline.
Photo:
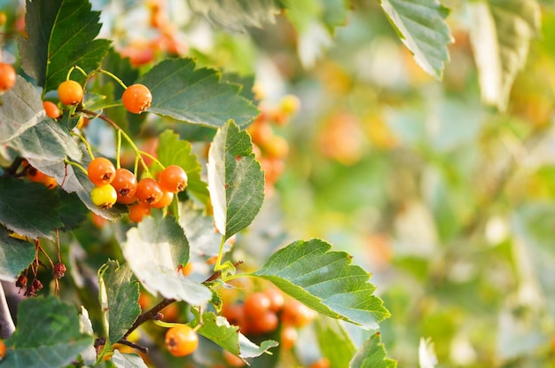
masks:
<instances>
[{"instance_id":1,"label":"upright folded leaf, pale left half and green right half, at centre","mask_svg":"<svg viewBox=\"0 0 555 368\"><path fill-rule=\"evenodd\" d=\"M218 129L207 171L215 227L229 239L253 221L264 200L264 173L251 139L233 121Z\"/></svg>"}]
</instances>

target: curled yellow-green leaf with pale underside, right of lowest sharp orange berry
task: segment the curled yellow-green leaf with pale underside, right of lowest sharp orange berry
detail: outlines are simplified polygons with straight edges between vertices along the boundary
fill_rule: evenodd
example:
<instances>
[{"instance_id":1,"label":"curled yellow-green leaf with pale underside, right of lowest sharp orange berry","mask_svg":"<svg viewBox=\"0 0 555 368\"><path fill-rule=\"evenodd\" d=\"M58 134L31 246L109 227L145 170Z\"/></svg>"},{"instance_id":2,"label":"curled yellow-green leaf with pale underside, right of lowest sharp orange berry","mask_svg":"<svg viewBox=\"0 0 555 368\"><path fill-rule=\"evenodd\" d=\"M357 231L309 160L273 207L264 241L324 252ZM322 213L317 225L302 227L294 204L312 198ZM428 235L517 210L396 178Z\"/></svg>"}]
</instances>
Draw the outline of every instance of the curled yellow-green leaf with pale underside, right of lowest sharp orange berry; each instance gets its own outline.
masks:
<instances>
[{"instance_id":1,"label":"curled yellow-green leaf with pale underside, right of lowest sharp orange berry","mask_svg":"<svg viewBox=\"0 0 555 368\"><path fill-rule=\"evenodd\" d=\"M193 313L199 317L196 311L193 310ZM277 342L271 340L262 341L261 346L254 344L238 332L238 326L230 325L225 317L216 316L212 312L203 313L199 333L243 359L261 356L269 348L277 347Z\"/></svg>"}]
</instances>

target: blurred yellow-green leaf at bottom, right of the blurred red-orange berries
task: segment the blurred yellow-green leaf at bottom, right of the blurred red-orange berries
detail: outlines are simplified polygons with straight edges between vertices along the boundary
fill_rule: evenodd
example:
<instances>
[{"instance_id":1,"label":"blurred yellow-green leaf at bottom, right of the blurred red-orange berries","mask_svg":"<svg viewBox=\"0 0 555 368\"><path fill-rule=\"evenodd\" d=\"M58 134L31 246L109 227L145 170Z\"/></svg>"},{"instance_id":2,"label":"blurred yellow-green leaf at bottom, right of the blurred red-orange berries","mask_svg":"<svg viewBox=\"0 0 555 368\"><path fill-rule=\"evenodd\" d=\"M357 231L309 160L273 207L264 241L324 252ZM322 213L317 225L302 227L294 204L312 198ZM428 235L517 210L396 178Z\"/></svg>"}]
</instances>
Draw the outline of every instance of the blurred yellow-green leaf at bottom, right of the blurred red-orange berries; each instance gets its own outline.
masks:
<instances>
[{"instance_id":1,"label":"blurred yellow-green leaf at bottom, right of the blurred red-orange berries","mask_svg":"<svg viewBox=\"0 0 555 368\"><path fill-rule=\"evenodd\" d=\"M332 367L347 367L355 355L356 347L345 328L337 319L320 317L314 322L318 347Z\"/></svg>"}]
</instances>

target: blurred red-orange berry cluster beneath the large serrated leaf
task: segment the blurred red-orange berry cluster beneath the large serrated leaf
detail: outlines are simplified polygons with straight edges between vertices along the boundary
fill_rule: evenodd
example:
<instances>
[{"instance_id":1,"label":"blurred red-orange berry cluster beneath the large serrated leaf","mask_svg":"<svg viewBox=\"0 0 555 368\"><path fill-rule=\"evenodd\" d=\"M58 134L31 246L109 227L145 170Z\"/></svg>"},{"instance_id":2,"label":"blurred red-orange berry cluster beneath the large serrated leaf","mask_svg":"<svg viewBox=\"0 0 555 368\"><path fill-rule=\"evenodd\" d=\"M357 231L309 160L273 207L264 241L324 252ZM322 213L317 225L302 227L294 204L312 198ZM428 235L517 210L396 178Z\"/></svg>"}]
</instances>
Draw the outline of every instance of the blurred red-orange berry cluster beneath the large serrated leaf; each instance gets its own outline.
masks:
<instances>
[{"instance_id":1,"label":"blurred red-orange berry cluster beneath the large serrated leaf","mask_svg":"<svg viewBox=\"0 0 555 368\"><path fill-rule=\"evenodd\" d=\"M270 286L246 295L242 301L224 299L222 315L248 336L273 333L281 328L281 346L292 348L297 340L297 329L309 325L316 312Z\"/></svg>"}]
</instances>

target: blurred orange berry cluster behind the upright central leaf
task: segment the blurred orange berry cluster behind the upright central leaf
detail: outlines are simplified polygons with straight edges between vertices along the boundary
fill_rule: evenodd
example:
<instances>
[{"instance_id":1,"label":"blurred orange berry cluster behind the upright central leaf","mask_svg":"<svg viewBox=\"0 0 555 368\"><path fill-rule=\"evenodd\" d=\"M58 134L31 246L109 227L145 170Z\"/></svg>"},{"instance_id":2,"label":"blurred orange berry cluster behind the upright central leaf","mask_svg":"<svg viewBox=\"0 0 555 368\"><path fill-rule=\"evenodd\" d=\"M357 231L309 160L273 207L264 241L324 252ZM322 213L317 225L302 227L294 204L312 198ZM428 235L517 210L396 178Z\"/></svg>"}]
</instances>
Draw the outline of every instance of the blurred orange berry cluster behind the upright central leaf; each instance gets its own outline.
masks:
<instances>
[{"instance_id":1,"label":"blurred orange berry cluster behind the upright central leaf","mask_svg":"<svg viewBox=\"0 0 555 368\"><path fill-rule=\"evenodd\" d=\"M285 157L289 153L289 145L284 137L275 133L274 126L287 124L301 103L299 98L287 95L275 108L261 104L262 113L251 124L247 131L254 144L254 154L260 161L266 177L266 194L271 195L274 184L285 169Z\"/></svg>"}]
</instances>

